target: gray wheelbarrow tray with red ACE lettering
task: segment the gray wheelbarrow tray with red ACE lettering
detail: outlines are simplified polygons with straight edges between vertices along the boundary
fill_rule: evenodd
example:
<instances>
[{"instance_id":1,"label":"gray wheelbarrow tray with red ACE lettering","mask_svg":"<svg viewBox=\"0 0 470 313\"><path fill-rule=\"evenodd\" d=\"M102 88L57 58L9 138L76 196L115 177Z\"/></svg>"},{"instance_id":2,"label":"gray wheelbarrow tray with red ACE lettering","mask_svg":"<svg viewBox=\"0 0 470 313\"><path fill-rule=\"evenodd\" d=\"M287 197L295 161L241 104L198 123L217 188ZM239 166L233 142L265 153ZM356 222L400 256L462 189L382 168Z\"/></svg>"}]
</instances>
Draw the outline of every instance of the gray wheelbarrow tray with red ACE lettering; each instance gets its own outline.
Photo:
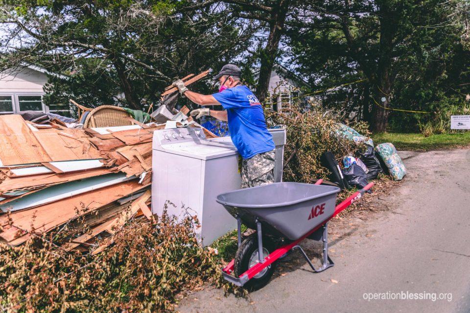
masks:
<instances>
[{"instance_id":1,"label":"gray wheelbarrow tray with red ACE lettering","mask_svg":"<svg viewBox=\"0 0 470 313\"><path fill-rule=\"evenodd\" d=\"M217 202L249 228L257 229L258 221L270 235L297 240L333 214L339 191L334 186L277 182L227 192L217 196ZM312 209L318 215L312 216Z\"/></svg>"}]
</instances>

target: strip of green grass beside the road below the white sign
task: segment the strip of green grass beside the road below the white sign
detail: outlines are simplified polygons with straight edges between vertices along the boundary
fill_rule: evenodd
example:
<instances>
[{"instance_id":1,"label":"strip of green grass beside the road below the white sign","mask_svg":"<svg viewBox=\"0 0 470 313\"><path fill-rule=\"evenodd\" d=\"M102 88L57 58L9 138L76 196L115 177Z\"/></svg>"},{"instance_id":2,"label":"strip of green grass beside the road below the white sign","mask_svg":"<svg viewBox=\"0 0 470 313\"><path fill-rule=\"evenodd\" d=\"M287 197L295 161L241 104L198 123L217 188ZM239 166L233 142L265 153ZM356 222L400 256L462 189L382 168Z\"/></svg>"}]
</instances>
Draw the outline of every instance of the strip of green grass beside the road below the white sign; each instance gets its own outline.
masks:
<instances>
[{"instance_id":1,"label":"strip of green grass beside the road below the white sign","mask_svg":"<svg viewBox=\"0 0 470 313\"><path fill-rule=\"evenodd\" d=\"M380 133L373 134L374 144L391 142L398 150L434 150L470 146L470 132L459 134L423 134Z\"/></svg>"}]
</instances>

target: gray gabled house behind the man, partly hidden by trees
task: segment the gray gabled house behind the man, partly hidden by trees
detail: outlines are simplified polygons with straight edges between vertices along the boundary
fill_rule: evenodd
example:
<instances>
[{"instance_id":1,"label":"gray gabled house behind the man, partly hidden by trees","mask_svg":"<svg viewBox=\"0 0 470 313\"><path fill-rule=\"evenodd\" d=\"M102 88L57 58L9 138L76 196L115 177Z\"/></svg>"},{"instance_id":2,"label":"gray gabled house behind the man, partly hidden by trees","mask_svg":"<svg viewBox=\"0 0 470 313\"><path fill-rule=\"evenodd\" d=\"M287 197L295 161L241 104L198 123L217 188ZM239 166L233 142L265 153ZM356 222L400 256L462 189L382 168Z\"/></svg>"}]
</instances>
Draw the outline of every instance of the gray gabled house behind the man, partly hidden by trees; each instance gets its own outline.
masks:
<instances>
[{"instance_id":1,"label":"gray gabled house behind the man, partly hidden by trees","mask_svg":"<svg viewBox=\"0 0 470 313\"><path fill-rule=\"evenodd\" d=\"M259 69L254 73L255 81L259 78ZM271 109L281 111L293 103L308 110L308 104L302 96L302 90L310 90L311 86L301 77L292 73L286 67L275 64L271 71L268 92L271 95Z\"/></svg>"}]
</instances>

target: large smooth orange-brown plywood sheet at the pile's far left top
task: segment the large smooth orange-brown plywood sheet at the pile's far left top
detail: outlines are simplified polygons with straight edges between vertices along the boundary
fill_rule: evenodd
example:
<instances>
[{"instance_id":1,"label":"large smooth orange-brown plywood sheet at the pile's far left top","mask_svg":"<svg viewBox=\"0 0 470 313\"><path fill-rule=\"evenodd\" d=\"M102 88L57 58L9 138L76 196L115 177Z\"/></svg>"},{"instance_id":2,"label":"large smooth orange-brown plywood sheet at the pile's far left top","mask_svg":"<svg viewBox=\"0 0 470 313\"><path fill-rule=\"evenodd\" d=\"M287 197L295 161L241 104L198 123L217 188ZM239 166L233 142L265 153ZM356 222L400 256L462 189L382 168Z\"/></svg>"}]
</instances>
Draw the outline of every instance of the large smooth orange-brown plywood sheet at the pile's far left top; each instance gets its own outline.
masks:
<instances>
[{"instance_id":1,"label":"large smooth orange-brown plywood sheet at the pile's far left top","mask_svg":"<svg viewBox=\"0 0 470 313\"><path fill-rule=\"evenodd\" d=\"M20 115L0 115L0 147L4 166L51 161Z\"/></svg>"}]
</instances>

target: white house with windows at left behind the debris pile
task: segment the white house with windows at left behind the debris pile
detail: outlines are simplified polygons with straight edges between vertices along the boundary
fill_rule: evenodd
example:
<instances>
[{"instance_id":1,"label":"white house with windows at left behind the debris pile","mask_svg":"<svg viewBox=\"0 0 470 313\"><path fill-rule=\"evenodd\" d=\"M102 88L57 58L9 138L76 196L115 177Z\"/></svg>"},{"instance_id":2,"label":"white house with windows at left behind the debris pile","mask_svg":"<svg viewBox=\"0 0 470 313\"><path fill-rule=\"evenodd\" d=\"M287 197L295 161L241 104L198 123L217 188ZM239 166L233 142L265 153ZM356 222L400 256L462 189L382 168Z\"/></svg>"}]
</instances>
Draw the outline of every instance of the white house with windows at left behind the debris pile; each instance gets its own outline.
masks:
<instances>
[{"instance_id":1,"label":"white house with windows at left behind the debris pile","mask_svg":"<svg viewBox=\"0 0 470 313\"><path fill-rule=\"evenodd\" d=\"M54 112L68 115L69 106L47 106L43 102L43 87L49 75L62 79L67 76L49 73L45 68L23 64L0 72L0 114L14 114L21 111Z\"/></svg>"}]
</instances>

